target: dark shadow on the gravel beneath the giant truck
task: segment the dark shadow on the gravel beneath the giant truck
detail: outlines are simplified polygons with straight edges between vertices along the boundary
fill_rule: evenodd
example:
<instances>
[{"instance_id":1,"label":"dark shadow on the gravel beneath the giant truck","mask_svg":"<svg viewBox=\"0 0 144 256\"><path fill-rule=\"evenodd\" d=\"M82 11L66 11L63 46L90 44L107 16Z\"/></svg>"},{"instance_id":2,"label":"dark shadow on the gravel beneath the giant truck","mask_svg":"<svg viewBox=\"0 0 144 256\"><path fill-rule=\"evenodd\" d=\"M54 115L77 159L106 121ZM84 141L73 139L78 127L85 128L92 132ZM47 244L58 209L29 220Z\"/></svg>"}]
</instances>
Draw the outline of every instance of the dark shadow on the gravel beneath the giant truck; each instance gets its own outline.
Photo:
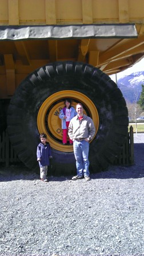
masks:
<instances>
[{"instance_id":1,"label":"dark shadow on the gravel beneath the giant truck","mask_svg":"<svg viewBox=\"0 0 144 256\"><path fill-rule=\"evenodd\" d=\"M137 179L144 177L144 143L134 144L134 158L135 163L131 166L110 166L108 170L102 171L101 173L91 174L91 179ZM22 163L17 165L11 165L5 167L4 165L0 169L0 181L9 182L17 180L39 180L39 174L33 173ZM50 176L49 181L66 181L71 180L71 177L54 177ZM81 180L83 181L83 179ZM76 182L81 182L76 181ZM74 181L75 182L75 181Z\"/></svg>"}]
</instances>

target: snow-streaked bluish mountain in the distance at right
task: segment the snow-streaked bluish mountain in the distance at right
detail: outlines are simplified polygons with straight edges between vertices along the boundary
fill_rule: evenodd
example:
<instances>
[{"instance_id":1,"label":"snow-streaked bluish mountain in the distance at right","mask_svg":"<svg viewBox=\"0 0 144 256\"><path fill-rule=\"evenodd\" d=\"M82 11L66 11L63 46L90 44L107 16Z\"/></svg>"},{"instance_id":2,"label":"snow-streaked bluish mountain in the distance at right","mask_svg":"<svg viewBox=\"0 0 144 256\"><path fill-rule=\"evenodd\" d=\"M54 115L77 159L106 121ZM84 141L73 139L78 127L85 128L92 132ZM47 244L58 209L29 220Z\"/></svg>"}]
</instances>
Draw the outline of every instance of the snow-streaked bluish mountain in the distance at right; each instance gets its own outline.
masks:
<instances>
[{"instance_id":1,"label":"snow-streaked bluish mountain in the distance at right","mask_svg":"<svg viewBox=\"0 0 144 256\"><path fill-rule=\"evenodd\" d=\"M144 85L144 71L131 73L117 81L119 89L121 89L123 97L126 101L135 102L141 95L142 84Z\"/></svg>"}]
</instances>

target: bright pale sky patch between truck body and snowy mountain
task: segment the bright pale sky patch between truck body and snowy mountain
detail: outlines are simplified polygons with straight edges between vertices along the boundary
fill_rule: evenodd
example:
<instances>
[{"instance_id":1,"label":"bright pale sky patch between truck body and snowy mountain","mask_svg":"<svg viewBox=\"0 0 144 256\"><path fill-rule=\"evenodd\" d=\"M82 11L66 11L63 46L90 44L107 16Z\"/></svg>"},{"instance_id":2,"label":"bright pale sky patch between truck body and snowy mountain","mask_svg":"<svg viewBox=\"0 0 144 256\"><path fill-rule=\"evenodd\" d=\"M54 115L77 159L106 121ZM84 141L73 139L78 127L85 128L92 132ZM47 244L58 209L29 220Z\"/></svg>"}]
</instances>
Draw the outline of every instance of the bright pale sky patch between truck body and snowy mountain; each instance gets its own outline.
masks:
<instances>
[{"instance_id":1,"label":"bright pale sky patch between truck body and snowy mountain","mask_svg":"<svg viewBox=\"0 0 144 256\"><path fill-rule=\"evenodd\" d=\"M126 69L122 72L117 73L117 80L119 78L125 77L126 75L130 75L131 73L134 73L137 71L144 71L144 58L141 59L141 61L139 61L135 65L133 65L133 67L129 67L129 69ZM110 75L110 78L115 82L115 74Z\"/></svg>"}]
</instances>

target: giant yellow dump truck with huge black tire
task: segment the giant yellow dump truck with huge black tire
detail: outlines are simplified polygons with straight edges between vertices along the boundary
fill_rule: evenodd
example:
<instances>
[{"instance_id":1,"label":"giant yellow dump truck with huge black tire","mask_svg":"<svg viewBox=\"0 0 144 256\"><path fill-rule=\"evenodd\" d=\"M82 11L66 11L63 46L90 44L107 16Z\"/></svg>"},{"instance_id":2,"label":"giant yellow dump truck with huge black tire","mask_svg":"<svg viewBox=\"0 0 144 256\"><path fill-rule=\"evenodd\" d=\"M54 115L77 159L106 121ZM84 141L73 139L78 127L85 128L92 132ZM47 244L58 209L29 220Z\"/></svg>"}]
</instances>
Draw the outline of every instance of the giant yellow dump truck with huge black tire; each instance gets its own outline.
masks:
<instances>
[{"instance_id":1,"label":"giant yellow dump truck with huge black tire","mask_svg":"<svg viewBox=\"0 0 144 256\"><path fill-rule=\"evenodd\" d=\"M39 133L53 151L54 174L75 171L62 144L59 111L82 102L96 133L90 170L106 169L125 143L125 99L109 75L143 58L143 0L0 0L1 132L19 159L37 168ZM7 121L6 121L7 120Z\"/></svg>"}]
</instances>

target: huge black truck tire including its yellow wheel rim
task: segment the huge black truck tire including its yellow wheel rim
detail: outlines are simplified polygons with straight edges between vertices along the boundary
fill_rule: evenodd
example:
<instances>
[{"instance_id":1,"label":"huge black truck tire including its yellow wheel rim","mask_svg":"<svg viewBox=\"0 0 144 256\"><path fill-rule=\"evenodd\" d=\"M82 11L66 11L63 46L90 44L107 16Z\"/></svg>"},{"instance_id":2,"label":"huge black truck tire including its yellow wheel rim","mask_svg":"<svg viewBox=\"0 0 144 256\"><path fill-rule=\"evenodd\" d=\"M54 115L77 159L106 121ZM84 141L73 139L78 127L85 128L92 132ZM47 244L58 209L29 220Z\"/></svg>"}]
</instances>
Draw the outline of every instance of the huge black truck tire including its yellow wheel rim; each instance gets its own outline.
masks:
<instances>
[{"instance_id":1,"label":"huge black truck tire including its yellow wheel rim","mask_svg":"<svg viewBox=\"0 0 144 256\"><path fill-rule=\"evenodd\" d=\"M31 73L11 99L7 124L11 144L29 169L38 169L39 134L50 142L53 175L75 174L73 146L62 144L59 111L64 99L83 103L95 124L90 142L90 172L105 170L121 152L129 125L125 99L101 70L80 62L55 62Z\"/></svg>"}]
</instances>

